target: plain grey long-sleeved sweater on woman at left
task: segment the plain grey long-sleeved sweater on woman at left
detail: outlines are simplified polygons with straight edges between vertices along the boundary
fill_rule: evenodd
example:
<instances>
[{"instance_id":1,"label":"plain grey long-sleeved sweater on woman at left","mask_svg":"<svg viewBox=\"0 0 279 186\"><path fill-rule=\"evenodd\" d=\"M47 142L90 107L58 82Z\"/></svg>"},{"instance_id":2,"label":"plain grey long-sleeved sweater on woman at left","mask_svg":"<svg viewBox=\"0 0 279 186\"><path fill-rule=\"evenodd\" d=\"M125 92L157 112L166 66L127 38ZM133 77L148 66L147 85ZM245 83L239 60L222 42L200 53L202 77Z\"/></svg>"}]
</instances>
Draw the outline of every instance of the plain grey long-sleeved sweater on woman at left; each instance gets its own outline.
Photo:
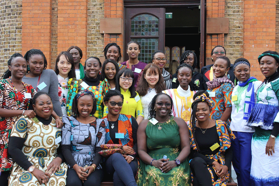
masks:
<instances>
[{"instance_id":1,"label":"plain grey long-sleeved sweater on woman at left","mask_svg":"<svg viewBox=\"0 0 279 186\"><path fill-rule=\"evenodd\" d=\"M27 83L29 85L32 85L32 87L36 90L37 88L37 83L39 80L39 76L35 77L35 78L28 78L26 76L24 76L22 78L22 81L24 83ZM52 103L53 103L53 110L54 112L56 112L56 114L58 116L63 116L62 114L62 110L61 110L61 104L60 101L58 99L58 78L56 73L51 70L51 69L45 69L43 70L41 77L40 77L40 82L39 85L41 83L45 83L47 86L44 87L42 90L40 90L39 88L37 89L37 92L46 92L50 95Z\"/></svg>"}]
</instances>

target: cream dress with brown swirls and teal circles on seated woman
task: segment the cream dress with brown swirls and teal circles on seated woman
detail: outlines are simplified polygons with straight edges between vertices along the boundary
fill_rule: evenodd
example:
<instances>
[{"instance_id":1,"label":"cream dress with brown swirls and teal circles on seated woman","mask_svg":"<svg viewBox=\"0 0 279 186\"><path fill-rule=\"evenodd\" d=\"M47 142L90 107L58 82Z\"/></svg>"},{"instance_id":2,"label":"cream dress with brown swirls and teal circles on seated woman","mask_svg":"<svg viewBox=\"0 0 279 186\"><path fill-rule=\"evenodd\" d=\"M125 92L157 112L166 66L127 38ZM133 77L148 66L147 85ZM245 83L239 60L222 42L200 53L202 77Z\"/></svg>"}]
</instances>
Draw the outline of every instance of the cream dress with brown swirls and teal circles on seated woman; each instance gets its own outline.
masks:
<instances>
[{"instance_id":1,"label":"cream dress with brown swirls and teal circles on seated woman","mask_svg":"<svg viewBox=\"0 0 279 186\"><path fill-rule=\"evenodd\" d=\"M24 138L22 151L37 169L45 172L47 166L57 156L56 139L61 138L61 130L56 127L53 118L49 125L42 124L36 117L29 119L22 116L12 128L11 136ZM67 165L60 164L60 171L51 174L46 186L66 185ZM13 165L9 178L10 186L40 185L37 178L30 172L21 168L17 163Z\"/></svg>"}]
</instances>

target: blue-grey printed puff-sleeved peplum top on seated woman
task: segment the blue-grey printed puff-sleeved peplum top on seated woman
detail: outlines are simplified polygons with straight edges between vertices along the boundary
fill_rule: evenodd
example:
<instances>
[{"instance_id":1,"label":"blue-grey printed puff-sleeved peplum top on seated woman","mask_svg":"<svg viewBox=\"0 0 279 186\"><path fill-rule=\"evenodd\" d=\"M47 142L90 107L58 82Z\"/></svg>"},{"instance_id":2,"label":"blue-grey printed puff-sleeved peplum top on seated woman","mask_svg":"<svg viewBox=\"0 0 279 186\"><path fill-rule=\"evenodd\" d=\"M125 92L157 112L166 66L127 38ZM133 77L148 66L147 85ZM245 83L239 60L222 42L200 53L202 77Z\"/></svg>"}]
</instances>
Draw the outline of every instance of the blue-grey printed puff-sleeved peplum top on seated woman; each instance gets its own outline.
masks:
<instances>
[{"instance_id":1,"label":"blue-grey printed puff-sleeved peplum top on seated woman","mask_svg":"<svg viewBox=\"0 0 279 186\"><path fill-rule=\"evenodd\" d=\"M71 153L78 166L91 165L96 147L105 143L105 123L102 119L96 119L90 124L83 124L68 116L63 116L62 121L61 144L71 145ZM101 168L101 164L97 165L97 169Z\"/></svg>"}]
</instances>

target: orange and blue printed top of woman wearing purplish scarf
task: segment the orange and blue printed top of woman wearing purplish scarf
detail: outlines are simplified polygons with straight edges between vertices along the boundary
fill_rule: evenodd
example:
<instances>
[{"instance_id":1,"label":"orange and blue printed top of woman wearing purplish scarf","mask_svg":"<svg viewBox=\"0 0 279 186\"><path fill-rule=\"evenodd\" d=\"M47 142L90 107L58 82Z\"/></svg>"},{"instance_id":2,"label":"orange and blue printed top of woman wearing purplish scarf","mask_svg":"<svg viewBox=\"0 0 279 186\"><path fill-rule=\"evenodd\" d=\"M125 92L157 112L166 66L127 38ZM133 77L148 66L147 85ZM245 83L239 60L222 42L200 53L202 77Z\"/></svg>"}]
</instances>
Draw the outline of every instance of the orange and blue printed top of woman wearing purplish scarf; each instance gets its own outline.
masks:
<instances>
[{"instance_id":1,"label":"orange and blue printed top of woman wearing purplish scarf","mask_svg":"<svg viewBox=\"0 0 279 186\"><path fill-rule=\"evenodd\" d=\"M215 96L210 97L213 101L210 119L220 119L226 107L232 106L232 90L233 87L231 83L223 83L219 87L207 90L208 92L215 92ZM228 124L230 124L229 119Z\"/></svg>"}]
</instances>

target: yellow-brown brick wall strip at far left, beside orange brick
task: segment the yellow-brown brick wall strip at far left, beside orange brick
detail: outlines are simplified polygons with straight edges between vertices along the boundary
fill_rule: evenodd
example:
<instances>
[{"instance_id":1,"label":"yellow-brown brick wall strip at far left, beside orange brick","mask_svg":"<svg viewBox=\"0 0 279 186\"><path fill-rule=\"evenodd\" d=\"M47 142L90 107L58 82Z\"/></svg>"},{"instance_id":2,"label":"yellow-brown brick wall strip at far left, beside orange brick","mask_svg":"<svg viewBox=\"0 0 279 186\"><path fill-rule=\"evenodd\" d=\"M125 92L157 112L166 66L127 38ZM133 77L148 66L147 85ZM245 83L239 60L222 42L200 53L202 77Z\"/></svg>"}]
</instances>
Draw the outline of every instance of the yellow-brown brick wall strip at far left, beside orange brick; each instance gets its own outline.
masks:
<instances>
[{"instance_id":1,"label":"yellow-brown brick wall strip at far left, beside orange brick","mask_svg":"<svg viewBox=\"0 0 279 186\"><path fill-rule=\"evenodd\" d=\"M21 53L22 1L0 2L0 76L8 69L7 62L16 52Z\"/></svg>"}]
</instances>

